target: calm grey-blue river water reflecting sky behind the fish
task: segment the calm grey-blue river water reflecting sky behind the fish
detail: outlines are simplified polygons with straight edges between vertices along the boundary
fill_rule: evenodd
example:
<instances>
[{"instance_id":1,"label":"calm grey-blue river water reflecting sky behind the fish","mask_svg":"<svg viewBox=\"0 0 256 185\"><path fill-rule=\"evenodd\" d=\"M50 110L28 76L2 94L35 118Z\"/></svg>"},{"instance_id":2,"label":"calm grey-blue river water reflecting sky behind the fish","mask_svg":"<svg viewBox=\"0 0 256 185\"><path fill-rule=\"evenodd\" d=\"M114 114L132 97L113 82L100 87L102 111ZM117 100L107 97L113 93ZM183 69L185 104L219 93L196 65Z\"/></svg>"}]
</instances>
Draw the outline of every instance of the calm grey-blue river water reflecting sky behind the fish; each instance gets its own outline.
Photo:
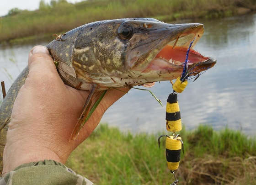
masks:
<instances>
[{"instance_id":1,"label":"calm grey-blue river water reflecting sky behind the fish","mask_svg":"<svg viewBox=\"0 0 256 185\"><path fill-rule=\"evenodd\" d=\"M178 95L181 119L187 129L199 124L215 130L229 127L255 135L256 129L256 14L218 20L199 20L205 33L195 49L217 59L213 69L195 82L189 81ZM37 44L0 48L0 80L9 89L27 65L30 49ZM165 130L165 102L172 92L170 82L150 89L164 103L161 107L147 91L130 90L102 117L101 122L123 131ZM1 95L2 97L2 95Z\"/></svg>"}]
</instances>

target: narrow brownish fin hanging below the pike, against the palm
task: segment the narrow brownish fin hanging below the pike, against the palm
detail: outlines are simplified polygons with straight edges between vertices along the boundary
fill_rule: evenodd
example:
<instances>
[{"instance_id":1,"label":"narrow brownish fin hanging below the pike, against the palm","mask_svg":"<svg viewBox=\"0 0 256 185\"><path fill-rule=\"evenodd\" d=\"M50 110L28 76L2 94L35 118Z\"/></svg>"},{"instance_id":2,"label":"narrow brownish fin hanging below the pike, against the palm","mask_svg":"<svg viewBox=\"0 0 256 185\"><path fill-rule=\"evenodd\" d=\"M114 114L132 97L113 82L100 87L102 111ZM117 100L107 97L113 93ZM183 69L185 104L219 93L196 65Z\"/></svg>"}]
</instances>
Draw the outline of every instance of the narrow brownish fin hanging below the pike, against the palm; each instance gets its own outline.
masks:
<instances>
[{"instance_id":1,"label":"narrow brownish fin hanging below the pike, against the palm","mask_svg":"<svg viewBox=\"0 0 256 185\"><path fill-rule=\"evenodd\" d=\"M85 105L82 109L82 113L81 113L80 117L78 118L78 120L75 124L75 128L74 128L69 140L75 140L76 139L80 130L84 127L87 120L91 117L92 113L95 111L96 107L99 105L102 98L106 94L107 90L99 92L98 95L96 95L95 92L96 92L96 85L92 85L92 89L91 89L91 91L90 91L90 93L89 93L89 95L88 95L88 97L85 101ZM93 100L92 97L94 95L96 96L95 97L96 101L92 105L92 100Z\"/></svg>"}]
</instances>

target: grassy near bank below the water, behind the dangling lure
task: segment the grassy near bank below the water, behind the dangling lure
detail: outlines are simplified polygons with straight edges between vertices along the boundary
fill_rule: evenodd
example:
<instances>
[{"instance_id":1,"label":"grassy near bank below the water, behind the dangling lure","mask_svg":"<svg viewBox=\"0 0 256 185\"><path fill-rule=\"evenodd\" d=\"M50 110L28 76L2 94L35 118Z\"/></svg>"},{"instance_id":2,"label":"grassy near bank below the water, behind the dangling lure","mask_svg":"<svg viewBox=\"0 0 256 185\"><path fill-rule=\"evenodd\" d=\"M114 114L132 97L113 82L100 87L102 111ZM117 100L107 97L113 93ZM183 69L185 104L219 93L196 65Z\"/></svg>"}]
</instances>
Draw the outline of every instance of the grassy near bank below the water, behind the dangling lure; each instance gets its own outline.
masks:
<instances>
[{"instance_id":1,"label":"grassy near bank below the water, behind the dangling lure","mask_svg":"<svg viewBox=\"0 0 256 185\"><path fill-rule=\"evenodd\" d=\"M181 184L256 183L255 138L207 126L189 132L183 128L180 134L185 155L176 174ZM159 135L132 135L101 124L71 154L67 166L99 185L170 185L174 179L166 167L164 138L158 148Z\"/></svg>"}]
</instances>

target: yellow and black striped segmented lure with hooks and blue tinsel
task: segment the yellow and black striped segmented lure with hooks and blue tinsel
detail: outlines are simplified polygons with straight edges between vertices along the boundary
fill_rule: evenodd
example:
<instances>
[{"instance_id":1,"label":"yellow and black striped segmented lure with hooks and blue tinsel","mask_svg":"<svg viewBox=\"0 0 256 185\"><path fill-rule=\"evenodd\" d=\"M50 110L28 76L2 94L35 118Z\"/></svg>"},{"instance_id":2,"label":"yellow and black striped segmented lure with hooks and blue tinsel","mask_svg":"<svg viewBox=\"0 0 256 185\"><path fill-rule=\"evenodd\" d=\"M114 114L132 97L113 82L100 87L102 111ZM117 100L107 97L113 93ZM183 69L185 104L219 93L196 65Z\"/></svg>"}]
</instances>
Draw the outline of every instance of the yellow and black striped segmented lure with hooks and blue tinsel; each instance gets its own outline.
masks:
<instances>
[{"instance_id":1,"label":"yellow and black striped segmented lure with hooks and blue tinsel","mask_svg":"<svg viewBox=\"0 0 256 185\"><path fill-rule=\"evenodd\" d=\"M184 68L181 74L181 77L178 77L175 81L175 84L172 85L173 93L171 93L167 98L166 104L166 130L172 132L172 136L161 135L158 138L158 145L160 147L160 138L166 137L165 142L165 153L166 153L166 161L168 169L170 169L171 173L174 175L175 180L171 183L171 185L178 185L179 180L176 179L175 170L179 168L180 159L181 159L181 148L183 149L183 142L179 134L176 132L181 131L181 112L178 104L178 95L176 92L181 93L187 86L187 79L190 75L195 75L195 72L189 73L188 71L188 54L192 43L195 39L190 42L190 46L187 50L186 61L184 62ZM194 81L199 77L200 74L196 73L197 77ZM171 82L172 84L172 82Z\"/></svg>"}]
</instances>

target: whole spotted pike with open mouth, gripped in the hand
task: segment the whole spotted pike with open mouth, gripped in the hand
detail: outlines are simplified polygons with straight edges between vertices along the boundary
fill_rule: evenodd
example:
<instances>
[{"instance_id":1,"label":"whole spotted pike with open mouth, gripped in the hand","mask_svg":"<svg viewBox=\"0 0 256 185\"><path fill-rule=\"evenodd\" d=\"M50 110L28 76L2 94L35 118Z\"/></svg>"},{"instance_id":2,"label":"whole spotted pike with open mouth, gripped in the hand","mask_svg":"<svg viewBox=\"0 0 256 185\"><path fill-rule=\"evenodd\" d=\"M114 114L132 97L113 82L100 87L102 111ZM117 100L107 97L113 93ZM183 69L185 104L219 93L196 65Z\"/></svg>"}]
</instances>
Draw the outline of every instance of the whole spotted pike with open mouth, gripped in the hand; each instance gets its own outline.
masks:
<instances>
[{"instance_id":1,"label":"whole spotted pike with open mouth, gripped in the hand","mask_svg":"<svg viewBox=\"0 0 256 185\"><path fill-rule=\"evenodd\" d=\"M176 79L182 73L190 42L194 39L193 48L203 31L203 24L167 24L151 18L96 21L58 36L47 48L64 83L90 91L86 109L96 91ZM188 61L190 72L200 73L214 66L215 59L192 48ZM28 67L21 72L1 105L2 145L13 103L28 72ZM79 132L82 118L73 137Z\"/></svg>"}]
</instances>

